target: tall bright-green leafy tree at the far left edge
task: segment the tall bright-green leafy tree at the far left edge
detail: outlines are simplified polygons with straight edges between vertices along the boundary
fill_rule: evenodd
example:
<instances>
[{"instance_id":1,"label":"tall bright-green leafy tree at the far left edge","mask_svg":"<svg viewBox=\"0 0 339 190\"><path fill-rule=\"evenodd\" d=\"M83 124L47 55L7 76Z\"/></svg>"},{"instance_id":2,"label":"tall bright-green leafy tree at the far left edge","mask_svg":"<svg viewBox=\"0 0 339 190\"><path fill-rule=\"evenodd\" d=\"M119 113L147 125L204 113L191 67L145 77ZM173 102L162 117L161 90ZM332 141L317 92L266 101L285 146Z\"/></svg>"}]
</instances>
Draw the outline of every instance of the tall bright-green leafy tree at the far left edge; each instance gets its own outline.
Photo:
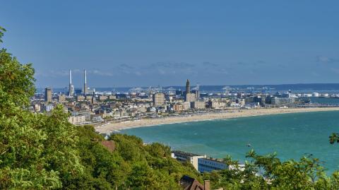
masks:
<instances>
[{"instance_id":1,"label":"tall bright-green leafy tree at the far left edge","mask_svg":"<svg viewBox=\"0 0 339 190\"><path fill-rule=\"evenodd\" d=\"M74 126L61 107L50 116L26 109L35 93L33 75L31 64L0 50L0 189L61 188L82 172Z\"/></svg>"}]
</instances>

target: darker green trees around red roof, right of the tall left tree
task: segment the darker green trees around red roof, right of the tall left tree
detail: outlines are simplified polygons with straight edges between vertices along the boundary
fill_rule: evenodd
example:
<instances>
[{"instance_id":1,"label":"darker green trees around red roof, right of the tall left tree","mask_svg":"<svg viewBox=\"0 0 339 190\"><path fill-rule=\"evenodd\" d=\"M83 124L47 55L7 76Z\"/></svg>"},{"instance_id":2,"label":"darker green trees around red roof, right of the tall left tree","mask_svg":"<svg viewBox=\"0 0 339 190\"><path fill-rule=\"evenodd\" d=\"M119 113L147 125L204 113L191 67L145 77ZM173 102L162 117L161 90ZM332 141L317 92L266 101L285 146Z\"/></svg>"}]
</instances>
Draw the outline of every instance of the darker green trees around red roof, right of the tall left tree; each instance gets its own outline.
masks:
<instances>
[{"instance_id":1,"label":"darker green trees around red roof, right of the tall left tree","mask_svg":"<svg viewBox=\"0 0 339 190\"><path fill-rule=\"evenodd\" d=\"M136 136L113 134L109 141L114 141L116 149L111 153L93 126L77 129L84 174L64 189L180 189L183 174L199 177L193 167L171 158L169 147L160 143L144 145Z\"/></svg>"}]
</instances>

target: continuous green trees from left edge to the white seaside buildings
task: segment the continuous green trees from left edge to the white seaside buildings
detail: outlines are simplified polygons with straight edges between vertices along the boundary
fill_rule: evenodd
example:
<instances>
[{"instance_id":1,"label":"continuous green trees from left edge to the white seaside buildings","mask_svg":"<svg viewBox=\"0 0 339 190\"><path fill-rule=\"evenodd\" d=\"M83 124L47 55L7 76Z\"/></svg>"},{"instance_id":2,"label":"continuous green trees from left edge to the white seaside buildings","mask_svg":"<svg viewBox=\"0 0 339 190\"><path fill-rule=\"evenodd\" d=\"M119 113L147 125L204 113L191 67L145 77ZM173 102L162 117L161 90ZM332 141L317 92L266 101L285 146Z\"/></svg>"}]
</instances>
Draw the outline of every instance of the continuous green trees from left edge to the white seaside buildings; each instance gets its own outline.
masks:
<instances>
[{"instance_id":1,"label":"continuous green trees from left edge to the white seaside buildings","mask_svg":"<svg viewBox=\"0 0 339 190\"><path fill-rule=\"evenodd\" d=\"M31 64L0 50L0 189L178 189L183 174L198 177L167 146L117 134L111 153L92 127L70 124L61 106L29 112L33 75Z\"/></svg>"}]
</instances>

